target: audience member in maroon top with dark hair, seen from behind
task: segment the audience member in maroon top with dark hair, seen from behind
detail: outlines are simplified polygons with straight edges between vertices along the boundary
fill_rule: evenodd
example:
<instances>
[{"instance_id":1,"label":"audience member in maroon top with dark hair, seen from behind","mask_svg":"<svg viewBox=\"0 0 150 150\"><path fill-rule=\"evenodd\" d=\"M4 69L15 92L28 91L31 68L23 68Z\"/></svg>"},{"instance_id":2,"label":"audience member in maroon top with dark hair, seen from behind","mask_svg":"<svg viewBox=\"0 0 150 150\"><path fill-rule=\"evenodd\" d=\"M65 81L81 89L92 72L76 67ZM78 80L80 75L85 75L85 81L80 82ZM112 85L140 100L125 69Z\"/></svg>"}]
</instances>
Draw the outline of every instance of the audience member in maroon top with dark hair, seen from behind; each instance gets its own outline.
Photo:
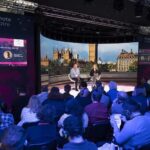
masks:
<instances>
[{"instance_id":1,"label":"audience member in maroon top with dark hair, seen from behind","mask_svg":"<svg viewBox=\"0 0 150 150\"><path fill-rule=\"evenodd\" d=\"M92 92L92 103L85 107L85 112L89 117L89 125L97 123L101 120L108 120L108 109L100 103L101 94L94 90Z\"/></svg>"}]
</instances>

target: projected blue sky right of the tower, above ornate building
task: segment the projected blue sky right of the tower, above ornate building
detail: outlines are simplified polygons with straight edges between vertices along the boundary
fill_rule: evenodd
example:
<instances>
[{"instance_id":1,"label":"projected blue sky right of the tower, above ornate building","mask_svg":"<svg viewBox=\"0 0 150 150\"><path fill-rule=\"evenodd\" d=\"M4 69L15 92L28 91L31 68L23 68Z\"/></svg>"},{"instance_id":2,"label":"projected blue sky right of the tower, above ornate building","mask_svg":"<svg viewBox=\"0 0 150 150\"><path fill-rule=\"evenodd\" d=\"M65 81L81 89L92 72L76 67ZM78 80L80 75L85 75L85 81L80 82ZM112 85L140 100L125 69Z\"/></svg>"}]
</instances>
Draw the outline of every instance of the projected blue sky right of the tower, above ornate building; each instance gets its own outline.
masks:
<instances>
[{"instance_id":1,"label":"projected blue sky right of the tower, above ornate building","mask_svg":"<svg viewBox=\"0 0 150 150\"><path fill-rule=\"evenodd\" d=\"M102 62L116 62L117 56L123 50L130 52L131 49L134 53L138 53L138 42L132 43L117 43L117 44L99 44L98 45L98 58L101 58Z\"/></svg>"}]
</instances>

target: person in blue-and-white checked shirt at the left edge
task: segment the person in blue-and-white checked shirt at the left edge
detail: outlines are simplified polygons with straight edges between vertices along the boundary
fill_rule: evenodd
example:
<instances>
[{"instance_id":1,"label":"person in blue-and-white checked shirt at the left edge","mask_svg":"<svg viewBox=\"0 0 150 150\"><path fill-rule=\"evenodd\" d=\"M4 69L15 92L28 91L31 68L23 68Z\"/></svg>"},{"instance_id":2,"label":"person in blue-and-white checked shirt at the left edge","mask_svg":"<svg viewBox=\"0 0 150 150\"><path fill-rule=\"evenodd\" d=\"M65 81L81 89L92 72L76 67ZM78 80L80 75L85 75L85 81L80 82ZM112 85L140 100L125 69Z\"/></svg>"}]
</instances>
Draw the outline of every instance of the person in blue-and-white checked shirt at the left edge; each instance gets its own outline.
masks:
<instances>
[{"instance_id":1,"label":"person in blue-and-white checked shirt at the left edge","mask_svg":"<svg viewBox=\"0 0 150 150\"><path fill-rule=\"evenodd\" d=\"M4 129L14 125L14 117L7 112L7 107L4 102L0 102L0 135Z\"/></svg>"}]
</instances>

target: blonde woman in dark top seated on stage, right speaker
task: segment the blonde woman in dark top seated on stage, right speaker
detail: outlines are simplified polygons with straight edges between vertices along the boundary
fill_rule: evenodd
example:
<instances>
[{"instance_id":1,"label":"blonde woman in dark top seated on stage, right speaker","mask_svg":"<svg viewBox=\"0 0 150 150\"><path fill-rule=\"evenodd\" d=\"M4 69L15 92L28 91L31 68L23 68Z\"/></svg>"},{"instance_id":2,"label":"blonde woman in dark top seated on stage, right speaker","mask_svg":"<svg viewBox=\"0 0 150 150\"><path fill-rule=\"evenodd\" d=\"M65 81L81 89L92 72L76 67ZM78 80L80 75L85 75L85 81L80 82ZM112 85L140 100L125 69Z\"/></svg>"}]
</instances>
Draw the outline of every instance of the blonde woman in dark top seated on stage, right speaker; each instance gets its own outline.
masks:
<instances>
[{"instance_id":1,"label":"blonde woman in dark top seated on stage, right speaker","mask_svg":"<svg viewBox=\"0 0 150 150\"><path fill-rule=\"evenodd\" d=\"M96 86L96 81L100 80L101 72L97 67L97 64L94 64L91 71L90 71L90 76L92 80L92 87Z\"/></svg>"}]
</instances>

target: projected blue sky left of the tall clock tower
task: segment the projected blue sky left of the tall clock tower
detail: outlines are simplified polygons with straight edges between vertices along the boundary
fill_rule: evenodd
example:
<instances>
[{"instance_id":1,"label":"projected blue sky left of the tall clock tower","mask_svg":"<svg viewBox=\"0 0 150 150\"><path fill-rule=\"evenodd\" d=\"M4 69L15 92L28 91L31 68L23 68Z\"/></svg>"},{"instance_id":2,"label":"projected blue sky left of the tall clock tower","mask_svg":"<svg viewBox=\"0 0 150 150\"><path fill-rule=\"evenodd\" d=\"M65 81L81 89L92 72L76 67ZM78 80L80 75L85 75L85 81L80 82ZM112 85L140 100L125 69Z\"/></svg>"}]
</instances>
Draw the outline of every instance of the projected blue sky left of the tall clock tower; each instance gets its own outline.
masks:
<instances>
[{"instance_id":1,"label":"projected blue sky left of the tall clock tower","mask_svg":"<svg viewBox=\"0 0 150 150\"><path fill-rule=\"evenodd\" d=\"M40 35L41 40L41 57L48 56L49 59L53 59L53 49L65 49L69 48L72 49L73 54L79 54L79 59L82 60L88 60L88 44L83 43L72 43L72 42L62 42L62 41L56 41L49 38L46 38L42 35Z\"/></svg>"}]
</instances>

